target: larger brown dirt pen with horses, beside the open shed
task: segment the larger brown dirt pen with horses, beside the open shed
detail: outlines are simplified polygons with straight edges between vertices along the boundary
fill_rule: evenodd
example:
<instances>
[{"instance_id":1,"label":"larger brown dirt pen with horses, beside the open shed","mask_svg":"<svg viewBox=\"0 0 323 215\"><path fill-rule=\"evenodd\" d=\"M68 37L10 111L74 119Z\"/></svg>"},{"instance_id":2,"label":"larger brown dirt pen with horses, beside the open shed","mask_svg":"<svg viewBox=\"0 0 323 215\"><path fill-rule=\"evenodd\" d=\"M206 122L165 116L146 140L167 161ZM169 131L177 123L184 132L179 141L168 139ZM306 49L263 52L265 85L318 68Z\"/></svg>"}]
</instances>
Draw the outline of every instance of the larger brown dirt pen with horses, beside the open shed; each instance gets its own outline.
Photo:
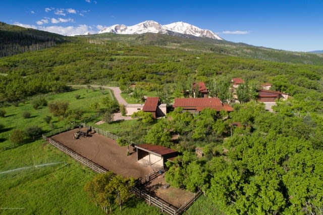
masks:
<instances>
[{"instance_id":1,"label":"larger brown dirt pen with horses, beside the open shed","mask_svg":"<svg viewBox=\"0 0 323 215\"><path fill-rule=\"evenodd\" d=\"M144 178L145 175L152 172L149 166L143 166L137 162L137 153L132 153L132 147L129 149L130 155L127 156L127 146L119 146L111 138L97 133L91 134L90 137L74 139L73 133L77 131L79 129L67 131L51 138L116 174ZM84 129L82 131L86 132Z\"/></svg>"}]
</instances>

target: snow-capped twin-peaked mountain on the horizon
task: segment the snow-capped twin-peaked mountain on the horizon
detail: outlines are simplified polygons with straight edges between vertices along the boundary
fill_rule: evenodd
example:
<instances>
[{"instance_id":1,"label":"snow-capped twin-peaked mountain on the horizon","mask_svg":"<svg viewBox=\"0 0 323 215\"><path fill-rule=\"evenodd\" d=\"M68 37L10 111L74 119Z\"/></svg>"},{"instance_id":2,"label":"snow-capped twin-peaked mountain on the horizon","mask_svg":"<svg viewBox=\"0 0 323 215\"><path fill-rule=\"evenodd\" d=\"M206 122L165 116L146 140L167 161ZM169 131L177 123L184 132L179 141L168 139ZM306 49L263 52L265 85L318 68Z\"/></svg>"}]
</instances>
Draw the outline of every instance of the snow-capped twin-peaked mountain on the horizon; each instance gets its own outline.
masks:
<instances>
[{"instance_id":1,"label":"snow-capped twin-peaked mountain on the horizon","mask_svg":"<svg viewBox=\"0 0 323 215\"><path fill-rule=\"evenodd\" d=\"M141 22L133 26L126 25L113 25L110 27L103 28L98 33L116 33L116 34L143 34L143 33L161 33L171 34L174 32L180 34L193 35L197 37L207 37L212 39L220 39L217 34L214 34L210 30L200 29L194 25L185 22L175 22L168 25L160 25L159 23L149 20Z\"/></svg>"}]
</instances>

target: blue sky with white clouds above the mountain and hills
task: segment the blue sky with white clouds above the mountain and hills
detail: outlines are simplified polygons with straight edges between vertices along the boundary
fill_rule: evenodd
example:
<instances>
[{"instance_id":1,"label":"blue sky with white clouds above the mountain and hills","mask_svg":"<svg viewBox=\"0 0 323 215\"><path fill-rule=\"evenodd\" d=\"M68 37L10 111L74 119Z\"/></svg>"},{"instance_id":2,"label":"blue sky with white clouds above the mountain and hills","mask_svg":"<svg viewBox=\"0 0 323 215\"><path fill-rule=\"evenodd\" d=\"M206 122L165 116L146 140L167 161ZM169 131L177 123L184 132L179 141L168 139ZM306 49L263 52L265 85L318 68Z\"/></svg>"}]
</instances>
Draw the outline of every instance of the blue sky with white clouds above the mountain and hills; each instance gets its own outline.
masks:
<instances>
[{"instance_id":1,"label":"blue sky with white clouds above the mountain and hills","mask_svg":"<svg viewBox=\"0 0 323 215\"><path fill-rule=\"evenodd\" d=\"M64 35L154 20L183 21L222 38L292 51L323 49L323 0L3 1L0 21Z\"/></svg>"}]
</instances>

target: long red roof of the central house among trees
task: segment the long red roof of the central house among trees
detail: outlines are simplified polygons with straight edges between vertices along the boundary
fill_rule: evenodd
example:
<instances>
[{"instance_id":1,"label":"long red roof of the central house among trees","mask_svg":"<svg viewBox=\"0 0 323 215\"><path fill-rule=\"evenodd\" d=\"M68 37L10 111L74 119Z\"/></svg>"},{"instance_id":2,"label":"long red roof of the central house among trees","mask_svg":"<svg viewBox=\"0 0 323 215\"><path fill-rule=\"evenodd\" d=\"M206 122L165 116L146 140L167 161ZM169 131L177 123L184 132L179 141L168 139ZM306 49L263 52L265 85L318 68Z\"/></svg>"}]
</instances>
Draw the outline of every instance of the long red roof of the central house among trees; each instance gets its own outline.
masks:
<instances>
[{"instance_id":1,"label":"long red roof of the central house among trees","mask_svg":"<svg viewBox=\"0 0 323 215\"><path fill-rule=\"evenodd\" d=\"M191 113L200 112L204 109L213 109L217 112L222 110L232 112L233 108L229 104L224 104L217 97L212 98L175 98L174 108L183 108L183 111Z\"/></svg>"}]
</instances>

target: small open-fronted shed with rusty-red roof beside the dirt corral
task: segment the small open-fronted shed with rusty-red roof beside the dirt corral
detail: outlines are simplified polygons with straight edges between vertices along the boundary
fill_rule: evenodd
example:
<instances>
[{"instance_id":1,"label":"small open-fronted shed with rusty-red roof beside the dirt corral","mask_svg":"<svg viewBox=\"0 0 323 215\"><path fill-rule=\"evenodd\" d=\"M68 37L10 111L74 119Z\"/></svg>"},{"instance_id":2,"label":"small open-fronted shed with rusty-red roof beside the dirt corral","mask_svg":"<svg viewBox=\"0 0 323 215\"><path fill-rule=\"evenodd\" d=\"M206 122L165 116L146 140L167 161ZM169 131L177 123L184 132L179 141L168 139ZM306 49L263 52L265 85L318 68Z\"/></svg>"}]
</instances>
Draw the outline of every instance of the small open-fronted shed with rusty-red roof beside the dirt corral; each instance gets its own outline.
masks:
<instances>
[{"instance_id":1,"label":"small open-fronted shed with rusty-red roof beside the dirt corral","mask_svg":"<svg viewBox=\"0 0 323 215\"><path fill-rule=\"evenodd\" d=\"M135 148L137 148L137 161L150 166L164 167L167 159L178 155L177 151L161 145L142 144L135 145Z\"/></svg>"}]
</instances>

